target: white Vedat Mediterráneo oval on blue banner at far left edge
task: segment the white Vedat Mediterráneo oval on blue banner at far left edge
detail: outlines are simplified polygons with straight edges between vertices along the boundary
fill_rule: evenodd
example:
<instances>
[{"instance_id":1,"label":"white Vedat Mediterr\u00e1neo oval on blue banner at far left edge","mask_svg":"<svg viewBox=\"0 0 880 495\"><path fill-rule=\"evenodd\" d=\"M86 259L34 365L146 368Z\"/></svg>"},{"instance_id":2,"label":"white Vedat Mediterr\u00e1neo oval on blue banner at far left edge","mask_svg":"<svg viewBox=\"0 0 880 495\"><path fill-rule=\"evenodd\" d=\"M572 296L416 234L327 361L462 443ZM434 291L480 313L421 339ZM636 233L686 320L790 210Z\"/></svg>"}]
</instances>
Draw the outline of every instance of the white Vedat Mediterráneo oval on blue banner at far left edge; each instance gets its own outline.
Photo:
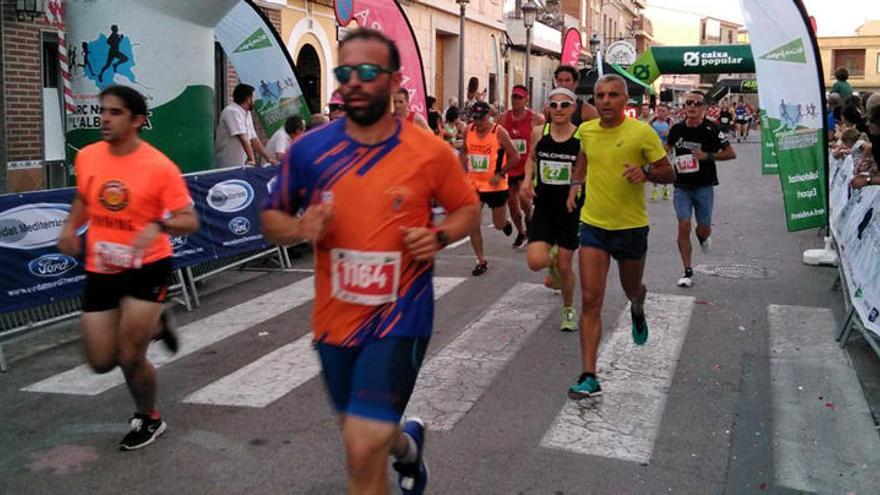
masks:
<instances>
[{"instance_id":1,"label":"white Vedat Mediterr\u00e1neo oval on blue banner at far left edge","mask_svg":"<svg viewBox=\"0 0 880 495\"><path fill-rule=\"evenodd\" d=\"M70 205L33 203L0 212L0 247L40 249L54 246Z\"/></svg>"}]
</instances>

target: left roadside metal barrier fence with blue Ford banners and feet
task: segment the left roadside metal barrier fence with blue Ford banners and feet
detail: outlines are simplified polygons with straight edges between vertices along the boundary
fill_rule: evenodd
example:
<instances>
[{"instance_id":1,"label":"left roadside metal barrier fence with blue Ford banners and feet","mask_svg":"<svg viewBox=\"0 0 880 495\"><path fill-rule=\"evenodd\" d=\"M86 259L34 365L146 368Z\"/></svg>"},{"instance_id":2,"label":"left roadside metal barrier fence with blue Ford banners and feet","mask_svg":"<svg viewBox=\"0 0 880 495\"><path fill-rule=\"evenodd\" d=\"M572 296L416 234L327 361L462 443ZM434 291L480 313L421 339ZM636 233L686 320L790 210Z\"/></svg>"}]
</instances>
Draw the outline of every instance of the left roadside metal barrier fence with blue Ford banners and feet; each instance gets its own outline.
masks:
<instances>
[{"instance_id":1,"label":"left roadside metal barrier fence with blue Ford banners and feet","mask_svg":"<svg viewBox=\"0 0 880 495\"><path fill-rule=\"evenodd\" d=\"M267 256L277 256L268 269L292 268L286 249L260 232L260 205L275 172L237 167L184 176L201 228L171 239L171 289L188 310L199 305L196 283L224 270ZM73 196L73 188L0 195L0 370L3 340L79 314L84 260L55 247Z\"/></svg>"}]
</instances>

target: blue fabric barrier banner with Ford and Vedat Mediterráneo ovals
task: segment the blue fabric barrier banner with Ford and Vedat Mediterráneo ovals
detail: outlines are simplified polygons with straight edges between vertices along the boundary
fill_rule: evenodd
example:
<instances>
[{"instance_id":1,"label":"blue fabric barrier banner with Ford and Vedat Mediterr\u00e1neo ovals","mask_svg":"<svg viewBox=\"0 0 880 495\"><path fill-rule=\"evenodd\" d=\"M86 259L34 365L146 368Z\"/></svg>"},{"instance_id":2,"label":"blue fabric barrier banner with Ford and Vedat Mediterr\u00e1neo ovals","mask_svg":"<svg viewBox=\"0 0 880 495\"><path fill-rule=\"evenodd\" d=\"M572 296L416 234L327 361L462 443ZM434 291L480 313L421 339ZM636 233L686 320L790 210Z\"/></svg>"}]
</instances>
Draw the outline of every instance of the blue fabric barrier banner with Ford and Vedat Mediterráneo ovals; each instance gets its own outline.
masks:
<instances>
[{"instance_id":1,"label":"blue fabric barrier banner with Ford and Vedat Mediterr\u00e1neo ovals","mask_svg":"<svg viewBox=\"0 0 880 495\"><path fill-rule=\"evenodd\" d=\"M265 249L260 205L275 172L248 167L184 176L202 227L171 238L174 267ZM0 313L82 293L82 259L55 248L73 193L71 188L0 195Z\"/></svg>"}]
</instances>

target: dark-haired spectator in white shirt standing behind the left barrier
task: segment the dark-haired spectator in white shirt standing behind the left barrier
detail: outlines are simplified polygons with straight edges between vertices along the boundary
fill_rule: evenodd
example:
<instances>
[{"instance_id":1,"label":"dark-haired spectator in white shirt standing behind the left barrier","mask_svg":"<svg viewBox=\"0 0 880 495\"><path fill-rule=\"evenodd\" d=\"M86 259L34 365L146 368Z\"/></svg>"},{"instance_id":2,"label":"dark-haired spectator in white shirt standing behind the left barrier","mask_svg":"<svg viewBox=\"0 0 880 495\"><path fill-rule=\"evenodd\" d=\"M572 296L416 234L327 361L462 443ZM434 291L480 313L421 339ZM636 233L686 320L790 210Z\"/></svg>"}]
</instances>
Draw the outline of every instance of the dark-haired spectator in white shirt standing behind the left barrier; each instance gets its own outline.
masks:
<instances>
[{"instance_id":1,"label":"dark-haired spectator in white shirt standing behind the left barrier","mask_svg":"<svg viewBox=\"0 0 880 495\"><path fill-rule=\"evenodd\" d=\"M232 90L232 103L220 112L217 137L214 140L215 165L217 167L240 167L255 165L259 154L272 162L274 158L263 148L254 130L251 110L254 108L254 87L239 84Z\"/></svg>"}]
</instances>

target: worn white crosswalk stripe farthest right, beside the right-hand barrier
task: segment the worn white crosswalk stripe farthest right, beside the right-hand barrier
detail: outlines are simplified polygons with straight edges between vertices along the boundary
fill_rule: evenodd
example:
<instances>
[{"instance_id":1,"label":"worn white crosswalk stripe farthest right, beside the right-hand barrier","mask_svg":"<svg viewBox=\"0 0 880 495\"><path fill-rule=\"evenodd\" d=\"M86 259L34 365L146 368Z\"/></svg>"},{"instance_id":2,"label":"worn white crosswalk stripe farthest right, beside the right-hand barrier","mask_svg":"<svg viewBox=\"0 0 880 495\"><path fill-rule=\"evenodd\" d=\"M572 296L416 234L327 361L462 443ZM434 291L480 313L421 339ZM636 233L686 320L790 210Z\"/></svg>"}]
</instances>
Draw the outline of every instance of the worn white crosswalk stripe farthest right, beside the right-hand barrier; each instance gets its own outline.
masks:
<instances>
[{"instance_id":1,"label":"worn white crosswalk stripe farthest right, beside the right-hand barrier","mask_svg":"<svg viewBox=\"0 0 880 495\"><path fill-rule=\"evenodd\" d=\"M880 438L852 363L832 338L831 311L771 305L767 312L777 484L876 493Z\"/></svg>"}]
</instances>

